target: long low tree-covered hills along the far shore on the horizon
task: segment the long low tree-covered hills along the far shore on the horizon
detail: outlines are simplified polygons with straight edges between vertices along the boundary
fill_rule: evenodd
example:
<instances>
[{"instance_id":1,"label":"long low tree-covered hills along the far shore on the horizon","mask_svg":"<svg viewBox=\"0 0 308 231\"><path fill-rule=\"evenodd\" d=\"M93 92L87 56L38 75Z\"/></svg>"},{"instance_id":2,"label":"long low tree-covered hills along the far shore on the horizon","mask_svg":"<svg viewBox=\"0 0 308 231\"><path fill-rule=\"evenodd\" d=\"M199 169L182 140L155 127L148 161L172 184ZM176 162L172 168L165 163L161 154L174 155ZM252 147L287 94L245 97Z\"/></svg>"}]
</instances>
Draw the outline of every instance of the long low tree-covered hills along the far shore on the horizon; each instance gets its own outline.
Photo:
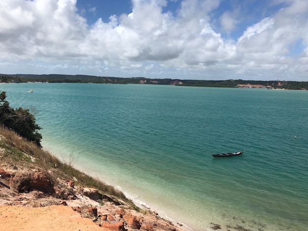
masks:
<instances>
[{"instance_id":1,"label":"long low tree-covered hills along the far shore on the horizon","mask_svg":"<svg viewBox=\"0 0 308 231\"><path fill-rule=\"evenodd\" d=\"M274 88L307 90L308 82L297 81L257 81L257 80L179 80L179 79L150 79L144 77L99 77L88 75L0 75L2 83L27 83L27 82L48 82L48 83L97 83L97 84L154 84L154 85L175 85L191 87L249 87L249 88Z\"/></svg>"}]
</instances>

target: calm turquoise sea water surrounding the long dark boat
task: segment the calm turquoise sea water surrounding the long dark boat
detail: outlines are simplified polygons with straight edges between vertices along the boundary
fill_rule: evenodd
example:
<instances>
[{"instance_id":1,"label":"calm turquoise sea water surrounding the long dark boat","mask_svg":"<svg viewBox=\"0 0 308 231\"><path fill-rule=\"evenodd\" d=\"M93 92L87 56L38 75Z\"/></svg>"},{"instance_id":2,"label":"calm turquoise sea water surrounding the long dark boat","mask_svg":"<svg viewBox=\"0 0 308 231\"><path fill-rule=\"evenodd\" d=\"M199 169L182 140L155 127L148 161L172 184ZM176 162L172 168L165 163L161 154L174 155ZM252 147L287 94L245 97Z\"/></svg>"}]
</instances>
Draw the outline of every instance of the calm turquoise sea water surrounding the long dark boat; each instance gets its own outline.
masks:
<instances>
[{"instance_id":1,"label":"calm turquoise sea water surrounding the long dark boat","mask_svg":"<svg viewBox=\"0 0 308 231\"><path fill-rule=\"evenodd\" d=\"M185 230L308 231L308 91L70 83L0 91L11 107L31 109L43 148Z\"/></svg>"}]
</instances>

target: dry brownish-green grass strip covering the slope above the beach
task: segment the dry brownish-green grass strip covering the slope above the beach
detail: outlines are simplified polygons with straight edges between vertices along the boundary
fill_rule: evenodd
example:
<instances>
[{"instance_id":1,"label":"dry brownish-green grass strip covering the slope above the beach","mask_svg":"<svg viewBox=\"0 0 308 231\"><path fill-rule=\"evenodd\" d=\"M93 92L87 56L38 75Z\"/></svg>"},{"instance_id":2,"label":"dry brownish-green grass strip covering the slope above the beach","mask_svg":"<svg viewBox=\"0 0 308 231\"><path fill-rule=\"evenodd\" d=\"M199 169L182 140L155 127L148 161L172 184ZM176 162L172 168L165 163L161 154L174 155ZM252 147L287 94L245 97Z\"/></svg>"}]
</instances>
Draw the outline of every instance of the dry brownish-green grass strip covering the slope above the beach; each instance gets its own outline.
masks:
<instances>
[{"instance_id":1,"label":"dry brownish-green grass strip covering the slope above the beach","mask_svg":"<svg viewBox=\"0 0 308 231\"><path fill-rule=\"evenodd\" d=\"M74 157L71 157L74 158ZM15 132L0 126L0 161L3 166L14 169L36 169L48 174L56 182L57 178L74 180L81 187L96 188L102 194L107 194L114 200L123 200L132 209L139 208L124 194L103 181L93 178L72 167L70 163L63 163L48 151L45 151L34 143L18 136ZM1 166L0 166L1 167ZM56 186L56 185L55 185Z\"/></svg>"}]
</instances>

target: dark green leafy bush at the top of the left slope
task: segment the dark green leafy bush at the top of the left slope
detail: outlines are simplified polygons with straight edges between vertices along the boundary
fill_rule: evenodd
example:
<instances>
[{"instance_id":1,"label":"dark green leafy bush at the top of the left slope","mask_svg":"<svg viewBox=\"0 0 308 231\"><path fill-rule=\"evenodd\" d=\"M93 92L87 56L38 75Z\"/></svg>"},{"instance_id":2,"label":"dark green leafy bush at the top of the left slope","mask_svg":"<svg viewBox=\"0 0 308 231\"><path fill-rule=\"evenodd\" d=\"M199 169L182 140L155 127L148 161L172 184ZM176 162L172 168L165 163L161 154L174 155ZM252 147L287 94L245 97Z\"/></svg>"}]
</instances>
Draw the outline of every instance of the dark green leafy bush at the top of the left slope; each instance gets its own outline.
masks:
<instances>
[{"instance_id":1,"label":"dark green leafy bush at the top of the left slope","mask_svg":"<svg viewBox=\"0 0 308 231\"><path fill-rule=\"evenodd\" d=\"M0 93L0 123L4 127L14 130L21 137L41 146L42 135L37 132L41 128L35 123L35 117L29 109L13 109L5 100L6 93Z\"/></svg>"}]
</instances>

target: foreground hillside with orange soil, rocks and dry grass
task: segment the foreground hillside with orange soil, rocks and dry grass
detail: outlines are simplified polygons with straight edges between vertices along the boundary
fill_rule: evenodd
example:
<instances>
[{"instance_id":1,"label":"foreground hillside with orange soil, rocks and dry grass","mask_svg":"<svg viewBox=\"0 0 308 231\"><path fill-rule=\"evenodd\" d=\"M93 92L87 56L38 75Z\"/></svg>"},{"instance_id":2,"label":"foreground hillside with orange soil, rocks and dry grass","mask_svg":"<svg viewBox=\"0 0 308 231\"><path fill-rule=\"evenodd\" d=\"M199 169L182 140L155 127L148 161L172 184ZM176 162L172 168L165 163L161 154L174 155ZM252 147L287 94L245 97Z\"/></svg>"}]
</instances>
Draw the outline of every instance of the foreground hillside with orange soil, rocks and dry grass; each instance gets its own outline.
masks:
<instances>
[{"instance_id":1,"label":"foreground hillside with orange soil, rocks and dry grass","mask_svg":"<svg viewBox=\"0 0 308 231\"><path fill-rule=\"evenodd\" d=\"M0 127L0 227L5 231L182 231L122 192Z\"/></svg>"}]
</instances>

